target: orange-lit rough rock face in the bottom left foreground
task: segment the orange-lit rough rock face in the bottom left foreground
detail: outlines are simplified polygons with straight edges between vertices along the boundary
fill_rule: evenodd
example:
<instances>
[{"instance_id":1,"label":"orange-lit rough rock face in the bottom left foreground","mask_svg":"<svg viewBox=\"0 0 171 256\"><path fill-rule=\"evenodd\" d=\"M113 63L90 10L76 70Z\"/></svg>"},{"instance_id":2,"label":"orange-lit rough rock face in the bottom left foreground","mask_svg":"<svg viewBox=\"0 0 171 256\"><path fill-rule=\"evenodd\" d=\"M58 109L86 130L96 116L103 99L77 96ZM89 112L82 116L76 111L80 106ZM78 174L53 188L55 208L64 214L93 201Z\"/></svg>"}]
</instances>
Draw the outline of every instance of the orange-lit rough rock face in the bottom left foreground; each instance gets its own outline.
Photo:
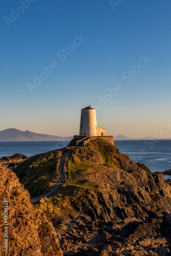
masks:
<instances>
[{"instance_id":1,"label":"orange-lit rough rock face in the bottom left foreground","mask_svg":"<svg viewBox=\"0 0 171 256\"><path fill-rule=\"evenodd\" d=\"M16 175L0 166L0 176L0 254L62 255L53 225L31 205L30 195ZM4 252L4 198L8 200L8 253Z\"/></svg>"}]
</instances>

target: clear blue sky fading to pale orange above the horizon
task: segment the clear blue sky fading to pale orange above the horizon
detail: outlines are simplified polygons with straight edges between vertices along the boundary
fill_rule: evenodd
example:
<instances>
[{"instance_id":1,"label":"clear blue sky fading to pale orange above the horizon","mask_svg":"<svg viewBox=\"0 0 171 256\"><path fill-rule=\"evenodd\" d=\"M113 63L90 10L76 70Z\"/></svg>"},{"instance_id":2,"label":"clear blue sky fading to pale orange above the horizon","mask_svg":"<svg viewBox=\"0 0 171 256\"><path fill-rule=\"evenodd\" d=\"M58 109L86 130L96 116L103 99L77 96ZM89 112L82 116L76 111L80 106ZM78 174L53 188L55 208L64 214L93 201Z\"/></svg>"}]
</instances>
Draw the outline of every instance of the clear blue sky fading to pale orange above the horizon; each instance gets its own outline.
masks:
<instances>
[{"instance_id":1,"label":"clear blue sky fading to pale orange above the horizon","mask_svg":"<svg viewBox=\"0 0 171 256\"><path fill-rule=\"evenodd\" d=\"M0 130L72 136L91 104L108 135L171 138L170 11L169 0L1 1Z\"/></svg>"}]
</instances>

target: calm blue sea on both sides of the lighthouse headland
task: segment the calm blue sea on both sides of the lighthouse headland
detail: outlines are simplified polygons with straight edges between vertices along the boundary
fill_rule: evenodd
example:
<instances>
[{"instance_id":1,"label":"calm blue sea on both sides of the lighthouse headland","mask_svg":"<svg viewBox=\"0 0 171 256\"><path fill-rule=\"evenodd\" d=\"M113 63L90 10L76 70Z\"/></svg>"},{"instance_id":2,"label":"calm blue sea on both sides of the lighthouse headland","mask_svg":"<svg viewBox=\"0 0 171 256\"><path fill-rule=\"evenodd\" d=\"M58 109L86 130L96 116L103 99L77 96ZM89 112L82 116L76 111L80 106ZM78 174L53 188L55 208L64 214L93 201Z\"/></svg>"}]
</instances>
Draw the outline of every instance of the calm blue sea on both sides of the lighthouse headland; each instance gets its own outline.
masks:
<instances>
[{"instance_id":1,"label":"calm blue sea on both sides of the lighthouse headland","mask_svg":"<svg viewBox=\"0 0 171 256\"><path fill-rule=\"evenodd\" d=\"M31 157L36 154L66 147L69 141L7 141L0 142L0 157L15 153ZM144 163L152 172L171 169L171 140L116 140L122 154L135 163ZM169 176L170 178L170 176Z\"/></svg>"}]
</instances>

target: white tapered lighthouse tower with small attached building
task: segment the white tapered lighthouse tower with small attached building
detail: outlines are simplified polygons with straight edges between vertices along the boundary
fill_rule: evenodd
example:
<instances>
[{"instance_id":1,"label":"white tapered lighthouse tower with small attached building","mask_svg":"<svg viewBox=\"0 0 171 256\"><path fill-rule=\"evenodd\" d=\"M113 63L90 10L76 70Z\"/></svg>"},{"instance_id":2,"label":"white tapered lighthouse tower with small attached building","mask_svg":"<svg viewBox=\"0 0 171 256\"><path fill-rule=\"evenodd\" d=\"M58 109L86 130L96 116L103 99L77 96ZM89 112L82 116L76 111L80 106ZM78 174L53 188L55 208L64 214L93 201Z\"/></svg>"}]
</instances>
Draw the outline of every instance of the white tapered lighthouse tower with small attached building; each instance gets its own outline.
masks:
<instances>
[{"instance_id":1,"label":"white tapered lighthouse tower with small attached building","mask_svg":"<svg viewBox=\"0 0 171 256\"><path fill-rule=\"evenodd\" d=\"M79 136L107 136L107 131L97 126L96 111L91 105L81 110Z\"/></svg>"}]
</instances>

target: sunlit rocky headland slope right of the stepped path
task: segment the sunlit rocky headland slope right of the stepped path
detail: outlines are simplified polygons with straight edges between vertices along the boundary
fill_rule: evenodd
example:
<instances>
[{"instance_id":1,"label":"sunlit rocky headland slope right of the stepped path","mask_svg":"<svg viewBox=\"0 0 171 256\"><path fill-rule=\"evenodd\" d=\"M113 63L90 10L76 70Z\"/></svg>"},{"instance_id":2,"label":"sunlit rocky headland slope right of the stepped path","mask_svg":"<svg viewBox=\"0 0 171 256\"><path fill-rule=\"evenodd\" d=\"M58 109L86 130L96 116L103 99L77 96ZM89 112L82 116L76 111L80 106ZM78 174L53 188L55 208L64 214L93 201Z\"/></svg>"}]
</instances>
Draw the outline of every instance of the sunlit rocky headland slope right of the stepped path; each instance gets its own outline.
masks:
<instances>
[{"instance_id":1,"label":"sunlit rocky headland slope right of the stepped path","mask_svg":"<svg viewBox=\"0 0 171 256\"><path fill-rule=\"evenodd\" d=\"M100 140L73 147L70 161L75 179L39 204L52 215L64 255L170 255L171 187L162 174Z\"/></svg>"}]
</instances>

